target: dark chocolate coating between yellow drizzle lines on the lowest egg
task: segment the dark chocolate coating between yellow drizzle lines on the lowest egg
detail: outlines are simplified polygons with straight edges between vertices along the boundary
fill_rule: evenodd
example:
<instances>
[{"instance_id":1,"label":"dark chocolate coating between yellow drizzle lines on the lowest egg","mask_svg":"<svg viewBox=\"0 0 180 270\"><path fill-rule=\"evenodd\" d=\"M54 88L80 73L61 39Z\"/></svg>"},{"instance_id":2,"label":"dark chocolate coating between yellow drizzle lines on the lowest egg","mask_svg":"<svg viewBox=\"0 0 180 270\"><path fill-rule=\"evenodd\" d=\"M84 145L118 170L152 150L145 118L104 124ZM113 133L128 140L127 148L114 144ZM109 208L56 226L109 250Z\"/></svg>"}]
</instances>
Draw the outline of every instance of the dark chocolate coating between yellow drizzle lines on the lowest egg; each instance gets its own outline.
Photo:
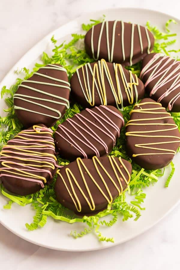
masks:
<instances>
[{"instance_id":1,"label":"dark chocolate coating between yellow drizzle lines on the lowest egg","mask_svg":"<svg viewBox=\"0 0 180 270\"><path fill-rule=\"evenodd\" d=\"M98 158L98 160L101 162L101 164L105 167L105 169L107 170L107 172L109 173L109 175L113 178L114 182L117 184L117 186L119 187L119 182L118 179L113 171L113 168L110 164L110 160L108 157L101 157ZM120 170L122 171L122 174L125 176L125 179L128 181L128 173L125 171L125 169L123 168L122 164L119 161L119 158L115 158L115 161L117 163L117 165L120 167ZM122 159L123 164L125 165L126 169L128 170L129 174L131 175L132 172L132 166L131 164ZM84 165L87 167L89 173L91 174L91 176L95 179L95 181L97 182L97 184L101 187L101 189L103 190L103 192L105 193L105 195L110 198L110 195L108 195L107 189L105 188L105 185L103 184L94 164L93 164L93 160L92 159L83 159L83 163ZM116 166L115 166L116 167ZM85 196L87 196L87 198L90 200L90 197L88 195L87 189L85 188L85 184L82 180L82 176L81 173L79 171L78 165L77 165L77 161L73 161L72 163L68 164L67 166L64 166L61 170L61 176L63 177L67 187L69 188L71 194L73 194L73 191L70 187L70 183L68 181L67 178L67 168L73 173L73 175L75 176L75 179L77 180L79 186L81 187L82 191L84 192ZM77 187L77 185L75 184L75 182L73 181L72 177L70 178L73 184L73 188L76 192L76 195L79 199L79 202L81 204L81 211L77 212L77 209L75 207L75 204L73 202L73 200L71 199L67 188L65 187L61 177L58 175L57 177L57 181L55 183L55 194L56 194L56 198L57 200L63 204L65 207L73 210L76 214L80 213L82 214L95 214L95 212L101 211L104 208L107 208L108 202L105 199L105 197L103 196L103 194L100 192L100 190L98 189L98 187L96 186L96 184L91 180L91 178L88 176L88 173L85 172L84 167L82 167L82 173L85 176L85 181L87 183L87 186L89 188L89 191L92 195L93 201L95 203L95 209L93 211L91 211L87 201L85 200L84 196L82 195L82 193L80 192L79 188ZM104 178L107 187L110 190L110 193L113 197L113 200L119 195L118 190L116 189L116 187L114 186L114 184L112 183L112 181L110 180L110 178L107 176L107 174L102 170L102 168L98 165L98 169L100 170L100 173L102 175L102 177ZM122 187L123 190L125 189L125 187L127 186L126 182L124 181L124 179L122 179L122 175L119 173L119 171L117 170L116 167L116 172L118 174L119 179L121 179L121 183L122 183ZM73 196L73 198L75 199L75 197ZM76 199L75 199L76 201Z\"/></svg>"}]
</instances>

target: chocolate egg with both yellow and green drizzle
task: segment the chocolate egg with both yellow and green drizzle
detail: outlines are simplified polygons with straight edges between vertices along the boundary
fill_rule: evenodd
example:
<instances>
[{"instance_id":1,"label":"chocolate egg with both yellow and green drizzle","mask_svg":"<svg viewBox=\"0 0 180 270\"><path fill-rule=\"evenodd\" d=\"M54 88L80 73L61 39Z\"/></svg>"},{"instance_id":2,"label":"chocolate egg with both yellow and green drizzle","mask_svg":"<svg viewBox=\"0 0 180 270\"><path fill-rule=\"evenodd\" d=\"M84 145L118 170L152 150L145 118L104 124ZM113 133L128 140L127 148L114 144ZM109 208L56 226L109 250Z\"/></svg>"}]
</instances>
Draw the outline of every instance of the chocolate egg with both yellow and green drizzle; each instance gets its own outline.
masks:
<instances>
[{"instance_id":1,"label":"chocolate egg with both yellow and green drizzle","mask_svg":"<svg viewBox=\"0 0 180 270\"><path fill-rule=\"evenodd\" d=\"M70 84L72 96L83 107L112 105L123 110L144 96L143 82L136 74L104 59L77 69Z\"/></svg>"}]
</instances>

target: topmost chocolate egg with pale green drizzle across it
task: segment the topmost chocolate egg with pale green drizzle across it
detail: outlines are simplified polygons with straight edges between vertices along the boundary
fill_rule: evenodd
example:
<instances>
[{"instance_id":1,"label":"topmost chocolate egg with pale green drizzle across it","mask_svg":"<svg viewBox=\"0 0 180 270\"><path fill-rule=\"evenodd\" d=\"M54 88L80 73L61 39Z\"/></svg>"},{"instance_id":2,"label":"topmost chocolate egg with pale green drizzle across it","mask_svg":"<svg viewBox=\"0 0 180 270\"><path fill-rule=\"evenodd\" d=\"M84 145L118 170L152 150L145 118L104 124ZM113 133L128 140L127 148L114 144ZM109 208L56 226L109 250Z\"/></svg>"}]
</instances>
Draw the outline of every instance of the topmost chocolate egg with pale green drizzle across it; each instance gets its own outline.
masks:
<instances>
[{"instance_id":1,"label":"topmost chocolate egg with pale green drizzle across it","mask_svg":"<svg viewBox=\"0 0 180 270\"><path fill-rule=\"evenodd\" d=\"M85 35L85 49L95 60L132 65L141 61L154 46L153 34L139 24L104 21Z\"/></svg>"}]
</instances>

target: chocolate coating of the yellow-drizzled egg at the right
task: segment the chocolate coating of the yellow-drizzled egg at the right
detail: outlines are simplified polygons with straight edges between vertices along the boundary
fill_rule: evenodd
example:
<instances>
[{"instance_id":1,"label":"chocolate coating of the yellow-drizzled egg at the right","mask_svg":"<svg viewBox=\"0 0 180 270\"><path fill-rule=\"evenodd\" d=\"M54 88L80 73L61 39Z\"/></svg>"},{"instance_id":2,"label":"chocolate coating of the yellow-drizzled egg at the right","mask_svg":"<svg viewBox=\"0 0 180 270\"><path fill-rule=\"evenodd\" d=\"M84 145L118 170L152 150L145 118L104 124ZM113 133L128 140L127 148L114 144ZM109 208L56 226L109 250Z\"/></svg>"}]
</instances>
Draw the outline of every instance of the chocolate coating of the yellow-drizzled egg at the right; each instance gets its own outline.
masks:
<instances>
[{"instance_id":1,"label":"chocolate coating of the yellow-drizzled egg at the right","mask_svg":"<svg viewBox=\"0 0 180 270\"><path fill-rule=\"evenodd\" d=\"M143 103L147 104L143 105ZM140 119L143 120L140 121ZM172 161L179 147L180 134L173 117L163 107L156 101L145 98L139 103L139 107L134 107L128 123L126 125L127 152L130 157L138 155L133 157L138 165L148 170L156 170L167 166ZM140 137L127 136L127 133L138 134ZM143 137L144 135L147 137ZM148 147L158 149L149 149Z\"/></svg>"}]
</instances>

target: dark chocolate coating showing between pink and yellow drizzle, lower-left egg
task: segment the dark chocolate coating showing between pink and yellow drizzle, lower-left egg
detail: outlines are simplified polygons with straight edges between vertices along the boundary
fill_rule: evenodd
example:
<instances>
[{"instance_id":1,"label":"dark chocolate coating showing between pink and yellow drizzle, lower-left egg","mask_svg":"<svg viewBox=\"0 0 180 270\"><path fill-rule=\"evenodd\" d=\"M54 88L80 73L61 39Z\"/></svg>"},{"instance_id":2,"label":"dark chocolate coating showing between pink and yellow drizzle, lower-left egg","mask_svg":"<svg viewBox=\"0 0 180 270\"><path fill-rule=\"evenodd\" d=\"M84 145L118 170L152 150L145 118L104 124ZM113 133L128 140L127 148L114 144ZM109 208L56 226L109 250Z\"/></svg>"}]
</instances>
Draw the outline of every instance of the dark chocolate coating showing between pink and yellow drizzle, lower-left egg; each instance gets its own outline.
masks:
<instances>
[{"instance_id":1,"label":"dark chocolate coating showing between pink and yellow drizzle, lower-left egg","mask_svg":"<svg viewBox=\"0 0 180 270\"><path fill-rule=\"evenodd\" d=\"M38 125L38 126L41 126L41 127L44 127L46 128L44 125ZM31 128L28 128L28 130L32 130L32 127ZM23 132L23 131L22 131ZM28 138L29 139L29 135L28 134L17 134L17 136L23 136L24 138ZM34 134L32 137L30 137L32 140L39 140L38 137L40 138L40 140L42 140L42 137L44 137L44 142L41 142L41 145L46 145L45 149L36 149L36 150L33 150L31 147L36 145L38 142L35 143L35 141L29 141L28 143L28 147L30 147L31 151L38 151L40 153L48 153L48 155L55 155L55 147L53 147L52 149L47 149L47 142L46 140L49 140L52 138L52 134L43 134L43 133L36 133ZM48 139L49 138L49 139ZM8 146L23 146L23 143L26 143L27 140L26 139L22 139L21 140L21 143L20 142L15 142L16 139L19 139L18 137L15 137L13 140L10 140L7 145ZM39 144L40 145L40 142ZM11 150L10 148L6 148L6 146L3 147L2 151L6 149L9 151ZM12 148L13 149L13 148ZM27 148L24 148L25 150ZM28 148L29 150L29 148ZM1 152L2 152L1 151ZM33 153L29 154L27 157L26 156L23 156L21 155L21 153L23 153L22 151L20 151L19 149L13 149L12 150L13 152L12 153L8 153L8 157L4 157L3 155L1 155L0 157L0 174L1 174L1 182L3 184L3 186L9 191L9 192L12 192L14 194L17 194L17 195L21 195L21 196L25 196L25 195L29 195L29 194L32 194L32 193L35 193L39 190L41 190L41 184L40 183L37 183L37 182L32 182L32 181L28 181L28 180L24 180L24 179L21 179L20 177L23 177L21 176L20 174L24 174L24 172L26 172L26 169L30 169L29 166L27 166L27 164L31 164L31 169L30 169L30 173L35 175L35 176L41 176L41 177L44 177L47 181L47 184L50 183L50 181L52 180L52 177L55 175L55 172L56 172L56 167L54 169L50 168L49 167L49 164L48 164L48 167L43 167L45 165L45 162L40 162L40 163L37 163L37 162L34 162L33 160L42 160L40 157L37 157L35 155L33 155ZM20 154L19 154L20 153ZM26 154L26 152L25 152ZM10 158L12 157L12 158ZM27 159L29 158L29 160L21 160L20 158L22 159ZM5 171L4 171L4 165L2 164L3 160L5 160L6 164L8 164L11 168L11 170L7 170L7 168L5 168ZM18 163L18 164L22 164L21 165L17 165L17 164L13 164L11 162L14 162L14 163ZM51 162L49 161L49 163L51 164ZM26 165L26 167L24 167ZM35 165L35 167L34 167ZM36 167L37 165L41 165L41 167ZM16 168L16 169L20 169L22 172L19 174L19 172L17 170L13 170L13 168ZM38 169L37 169L38 168ZM39 171L37 171L39 170ZM15 174L13 174L15 173ZM50 173L52 174L52 177L50 176ZM6 176L2 176L2 174L6 174ZM13 177L13 176L18 176L17 178ZM28 176L27 176L28 178ZM30 177L29 177L30 178ZM32 177L32 178L36 178L36 177ZM41 180L41 179L40 179ZM41 182L43 182L43 180L41 180Z\"/></svg>"}]
</instances>

